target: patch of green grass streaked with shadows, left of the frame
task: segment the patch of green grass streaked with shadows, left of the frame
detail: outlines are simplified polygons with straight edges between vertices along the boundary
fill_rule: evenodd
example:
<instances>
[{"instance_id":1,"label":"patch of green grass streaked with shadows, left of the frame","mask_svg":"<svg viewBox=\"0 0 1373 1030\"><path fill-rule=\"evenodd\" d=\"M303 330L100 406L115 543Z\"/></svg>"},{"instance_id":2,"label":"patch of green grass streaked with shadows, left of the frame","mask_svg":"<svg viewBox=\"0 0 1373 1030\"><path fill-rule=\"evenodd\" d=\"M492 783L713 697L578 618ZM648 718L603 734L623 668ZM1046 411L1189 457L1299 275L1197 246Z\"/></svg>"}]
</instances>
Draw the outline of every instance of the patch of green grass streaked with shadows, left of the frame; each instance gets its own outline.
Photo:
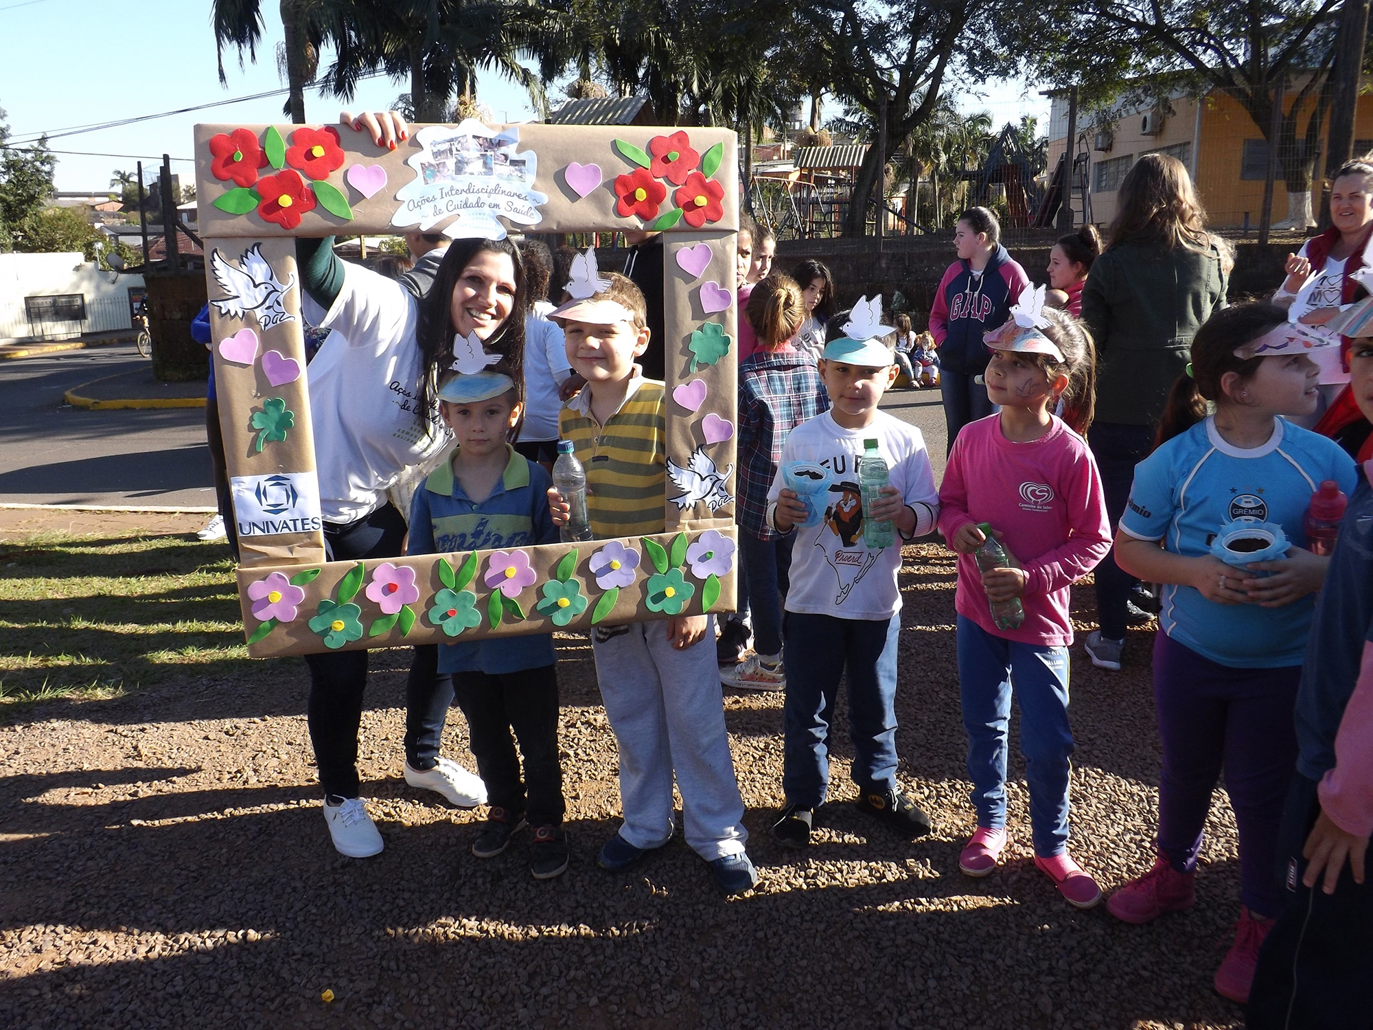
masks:
<instances>
[{"instance_id":1,"label":"patch of green grass streaked with shadows, left of the frame","mask_svg":"<svg viewBox=\"0 0 1373 1030\"><path fill-rule=\"evenodd\" d=\"M222 544L185 537L0 544L0 713L249 662L233 563Z\"/></svg>"}]
</instances>

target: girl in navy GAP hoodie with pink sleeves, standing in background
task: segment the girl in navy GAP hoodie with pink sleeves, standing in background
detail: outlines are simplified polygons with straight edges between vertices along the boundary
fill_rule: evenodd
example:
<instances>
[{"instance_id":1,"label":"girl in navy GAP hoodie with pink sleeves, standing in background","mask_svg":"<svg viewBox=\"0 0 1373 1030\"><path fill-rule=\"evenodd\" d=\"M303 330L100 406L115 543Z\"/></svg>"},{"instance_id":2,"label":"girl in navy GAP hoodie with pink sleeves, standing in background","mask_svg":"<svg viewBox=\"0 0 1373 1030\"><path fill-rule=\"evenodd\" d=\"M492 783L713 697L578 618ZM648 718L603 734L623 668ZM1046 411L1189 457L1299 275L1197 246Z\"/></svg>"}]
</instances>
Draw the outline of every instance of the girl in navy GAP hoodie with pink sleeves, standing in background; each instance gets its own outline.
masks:
<instances>
[{"instance_id":1,"label":"girl in navy GAP hoodie with pink sleeves, standing in background","mask_svg":"<svg viewBox=\"0 0 1373 1030\"><path fill-rule=\"evenodd\" d=\"M987 389L976 382L989 358L982 336L1005 323L1011 305L1030 284L1030 276L1001 246L1001 224L986 207L969 207L958 216L953 242L958 260L939 280L930 310L949 450L958 430L993 412Z\"/></svg>"}]
</instances>

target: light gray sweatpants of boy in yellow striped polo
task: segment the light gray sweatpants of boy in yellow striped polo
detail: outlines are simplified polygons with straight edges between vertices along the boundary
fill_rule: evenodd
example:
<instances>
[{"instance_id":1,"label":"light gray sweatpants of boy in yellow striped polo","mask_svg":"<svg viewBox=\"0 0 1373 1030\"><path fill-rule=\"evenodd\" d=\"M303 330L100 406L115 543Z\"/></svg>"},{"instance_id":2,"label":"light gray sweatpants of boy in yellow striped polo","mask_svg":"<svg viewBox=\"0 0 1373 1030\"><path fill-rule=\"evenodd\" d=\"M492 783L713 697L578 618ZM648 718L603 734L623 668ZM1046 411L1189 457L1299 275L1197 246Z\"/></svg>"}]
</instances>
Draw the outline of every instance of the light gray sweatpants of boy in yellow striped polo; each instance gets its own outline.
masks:
<instances>
[{"instance_id":1,"label":"light gray sweatpants of boy in yellow striped polo","mask_svg":"<svg viewBox=\"0 0 1373 1030\"><path fill-rule=\"evenodd\" d=\"M652 849L673 835L673 772L686 843L706 861L744 850L744 801L725 732L714 619L693 647L667 641L667 619L592 630L596 678L619 747L623 836Z\"/></svg>"}]
</instances>

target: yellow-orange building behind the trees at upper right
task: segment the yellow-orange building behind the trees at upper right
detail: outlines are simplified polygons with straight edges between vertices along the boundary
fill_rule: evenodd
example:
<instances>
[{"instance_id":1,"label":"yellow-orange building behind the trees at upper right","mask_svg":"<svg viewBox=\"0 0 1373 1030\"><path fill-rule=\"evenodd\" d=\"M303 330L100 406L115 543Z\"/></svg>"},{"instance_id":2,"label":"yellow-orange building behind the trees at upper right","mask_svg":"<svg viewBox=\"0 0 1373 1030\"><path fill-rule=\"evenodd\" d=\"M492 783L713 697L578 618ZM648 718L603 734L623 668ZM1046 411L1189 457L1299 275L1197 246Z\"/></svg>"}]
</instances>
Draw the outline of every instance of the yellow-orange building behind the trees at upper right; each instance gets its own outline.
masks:
<instances>
[{"instance_id":1,"label":"yellow-orange building behind the trees at upper right","mask_svg":"<svg viewBox=\"0 0 1373 1030\"><path fill-rule=\"evenodd\" d=\"M1284 108L1291 111L1296 88L1289 88ZM1311 100L1297 113L1297 136L1303 136ZM1322 148L1329 130L1329 115L1322 126ZM1049 114L1049 168L1057 168L1068 135L1067 95L1053 96ZM1354 126L1354 152L1373 150L1373 95L1361 95ZM1178 96L1164 108L1120 106L1104 118L1098 113L1078 113L1078 157L1089 157L1087 201L1090 218L1109 225L1116 213L1116 190L1130 166L1144 154L1170 154L1192 173L1197 194L1207 210L1208 224L1218 228L1258 228L1263 207L1263 180L1267 174L1269 146L1240 103L1218 89L1201 100ZM1314 201L1321 201L1319 174L1324 157L1317 159ZM1310 209L1302 194L1289 196L1281 169L1273 185L1273 222L1302 228ZM1074 207L1083 211L1082 198L1074 195ZM1308 224L1315 224L1314 217Z\"/></svg>"}]
</instances>

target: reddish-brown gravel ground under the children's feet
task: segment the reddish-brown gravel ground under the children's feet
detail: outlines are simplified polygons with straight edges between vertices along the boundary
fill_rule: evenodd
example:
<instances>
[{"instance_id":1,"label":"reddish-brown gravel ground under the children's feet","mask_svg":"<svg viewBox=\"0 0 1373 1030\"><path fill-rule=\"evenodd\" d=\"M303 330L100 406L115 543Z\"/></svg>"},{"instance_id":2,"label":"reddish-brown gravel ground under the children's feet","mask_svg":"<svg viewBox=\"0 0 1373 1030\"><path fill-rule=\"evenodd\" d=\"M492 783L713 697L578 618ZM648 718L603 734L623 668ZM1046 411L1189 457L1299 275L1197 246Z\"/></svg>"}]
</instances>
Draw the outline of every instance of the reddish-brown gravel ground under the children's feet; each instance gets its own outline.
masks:
<instances>
[{"instance_id":1,"label":"reddish-brown gravel ground under the children's feet","mask_svg":"<svg viewBox=\"0 0 1373 1030\"><path fill-rule=\"evenodd\" d=\"M472 858L482 812L405 786L404 651L373 654L361 768L386 851L367 861L330 846L298 659L22 710L0 726L0 1026L1238 1026L1210 986L1238 911L1223 795L1196 908L1153 926L1076 912L1032 868L1019 761L1008 861L960 875L951 556L906 548L902 586L901 779L935 835L899 840L849 803L840 718L818 845L777 847L781 698L726 691L762 873L737 900L680 838L637 871L595 867L619 797L582 637L557 641L573 865L548 883L527 835ZM1076 604L1089 619L1090 586ZM1074 651L1074 853L1107 890L1151 857L1149 636L1131 632L1124 673ZM445 753L471 766L456 709Z\"/></svg>"}]
</instances>

